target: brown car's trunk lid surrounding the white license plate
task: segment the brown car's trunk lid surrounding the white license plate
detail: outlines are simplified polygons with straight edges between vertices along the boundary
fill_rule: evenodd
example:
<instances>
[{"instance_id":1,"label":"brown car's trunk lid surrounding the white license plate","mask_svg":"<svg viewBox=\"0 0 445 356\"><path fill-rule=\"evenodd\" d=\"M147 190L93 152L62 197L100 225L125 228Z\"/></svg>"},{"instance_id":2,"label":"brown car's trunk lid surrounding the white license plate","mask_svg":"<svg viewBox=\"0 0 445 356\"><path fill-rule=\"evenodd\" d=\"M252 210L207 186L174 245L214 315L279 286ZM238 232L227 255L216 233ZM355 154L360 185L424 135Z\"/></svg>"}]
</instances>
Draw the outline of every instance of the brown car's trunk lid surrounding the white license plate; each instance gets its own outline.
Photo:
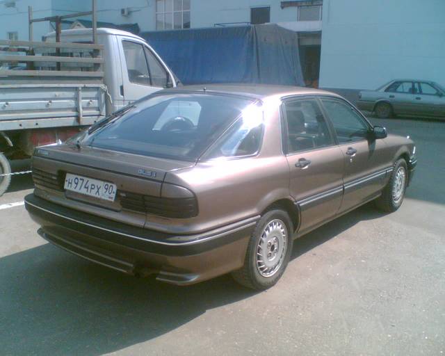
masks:
<instances>
[{"instance_id":1,"label":"brown car's trunk lid surrounding the white license plate","mask_svg":"<svg viewBox=\"0 0 445 356\"><path fill-rule=\"evenodd\" d=\"M33 156L33 179L36 195L56 204L143 227L145 213L122 209L122 206L125 208L128 204L129 196L161 197L161 187L167 172L193 165L193 162L60 145L36 150ZM115 184L115 200L111 202L65 190L67 173Z\"/></svg>"}]
</instances>

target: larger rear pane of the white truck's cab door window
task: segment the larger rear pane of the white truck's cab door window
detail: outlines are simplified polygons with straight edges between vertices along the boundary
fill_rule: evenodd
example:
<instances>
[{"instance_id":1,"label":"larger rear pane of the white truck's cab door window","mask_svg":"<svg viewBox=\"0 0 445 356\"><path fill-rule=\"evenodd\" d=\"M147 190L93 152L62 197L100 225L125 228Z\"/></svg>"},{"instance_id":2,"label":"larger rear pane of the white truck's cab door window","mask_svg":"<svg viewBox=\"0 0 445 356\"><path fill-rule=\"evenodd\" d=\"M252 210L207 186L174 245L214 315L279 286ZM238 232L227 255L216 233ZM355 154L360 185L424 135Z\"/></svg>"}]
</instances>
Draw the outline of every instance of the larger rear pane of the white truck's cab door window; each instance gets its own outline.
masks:
<instances>
[{"instance_id":1,"label":"larger rear pane of the white truck's cab door window","mask_svg":"<svg viewBox=\"0 0 445 356\"><path fill-rule=\"evenodd\" d=\"M122 41L122 47L124 47L129 81L131 81L131 83L149 86L150 76L143 45L130 41Z\"/></svg>"}]
</instances>

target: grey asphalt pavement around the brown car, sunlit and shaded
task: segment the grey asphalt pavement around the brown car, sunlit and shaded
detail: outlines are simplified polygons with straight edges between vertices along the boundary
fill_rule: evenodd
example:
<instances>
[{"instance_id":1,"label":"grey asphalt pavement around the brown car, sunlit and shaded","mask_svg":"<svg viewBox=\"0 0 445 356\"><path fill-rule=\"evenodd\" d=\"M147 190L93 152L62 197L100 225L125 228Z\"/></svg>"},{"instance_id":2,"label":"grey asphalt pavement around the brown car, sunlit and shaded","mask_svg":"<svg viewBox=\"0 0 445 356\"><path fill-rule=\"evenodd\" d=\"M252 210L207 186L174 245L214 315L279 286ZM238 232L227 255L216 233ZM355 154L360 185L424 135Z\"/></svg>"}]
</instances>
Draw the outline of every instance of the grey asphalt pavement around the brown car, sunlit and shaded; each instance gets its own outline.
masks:
<instances>
[{"instance_id":1,"label":"grey asphalt pavement around the brown car, sunlit and shaded","mask_svg":"<svg viewBox=\"0 0 445 356\"><path fill-rule=\"evenodd\" d=\"M136 279L59 250L22 205L31 177L14 177L0 197L0 355L443 355L445 122L371 121L416 141L403 206L367 204L300 238L261 293L228 276Z\"/></svg>"}]
</instances>

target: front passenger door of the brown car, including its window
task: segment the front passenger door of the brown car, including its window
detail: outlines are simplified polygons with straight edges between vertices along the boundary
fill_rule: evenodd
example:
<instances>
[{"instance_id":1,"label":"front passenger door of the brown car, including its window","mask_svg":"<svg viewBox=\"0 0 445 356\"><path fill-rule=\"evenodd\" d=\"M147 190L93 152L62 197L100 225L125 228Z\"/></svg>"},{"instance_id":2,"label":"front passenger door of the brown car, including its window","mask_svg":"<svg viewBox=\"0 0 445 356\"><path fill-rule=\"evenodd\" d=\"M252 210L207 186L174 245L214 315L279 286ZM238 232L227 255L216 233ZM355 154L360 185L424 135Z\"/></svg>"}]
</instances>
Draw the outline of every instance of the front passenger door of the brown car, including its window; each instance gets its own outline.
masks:
<instances>
[{"instance_id":1,"label":"front passenger door of the brown car, including its window","mask_svg":"<svg viewBox=\"0 0 445 356\"><path fill-rule=\"evenodd\" d=\"M353 106L336 98L322 98L321 102L343 152L341 211L347 211L380 193L391 168L391 155L384 140L370 139L371 124Z\"/></svg>"}]
</instances>

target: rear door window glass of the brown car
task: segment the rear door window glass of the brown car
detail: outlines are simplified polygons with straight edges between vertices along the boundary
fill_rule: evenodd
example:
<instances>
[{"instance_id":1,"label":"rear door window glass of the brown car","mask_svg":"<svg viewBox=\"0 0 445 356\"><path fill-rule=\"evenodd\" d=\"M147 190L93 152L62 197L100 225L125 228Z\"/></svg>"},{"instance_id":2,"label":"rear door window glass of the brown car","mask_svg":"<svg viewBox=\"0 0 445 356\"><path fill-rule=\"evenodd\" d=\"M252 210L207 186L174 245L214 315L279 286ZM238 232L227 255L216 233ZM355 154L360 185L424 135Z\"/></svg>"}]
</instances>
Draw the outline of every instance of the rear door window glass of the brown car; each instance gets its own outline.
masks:
<instances>
[{"instance_id":1,"label":"rear door window glass of the brown car","mask_svg":"<svg viewBox=\"0 0 445 356\"><path fill-rule=\"evenodd\" d=\"M298 99L285 102L284 113L288 153L316 149L334 143L316 100Z\"/></svg>"}]
</instances>

